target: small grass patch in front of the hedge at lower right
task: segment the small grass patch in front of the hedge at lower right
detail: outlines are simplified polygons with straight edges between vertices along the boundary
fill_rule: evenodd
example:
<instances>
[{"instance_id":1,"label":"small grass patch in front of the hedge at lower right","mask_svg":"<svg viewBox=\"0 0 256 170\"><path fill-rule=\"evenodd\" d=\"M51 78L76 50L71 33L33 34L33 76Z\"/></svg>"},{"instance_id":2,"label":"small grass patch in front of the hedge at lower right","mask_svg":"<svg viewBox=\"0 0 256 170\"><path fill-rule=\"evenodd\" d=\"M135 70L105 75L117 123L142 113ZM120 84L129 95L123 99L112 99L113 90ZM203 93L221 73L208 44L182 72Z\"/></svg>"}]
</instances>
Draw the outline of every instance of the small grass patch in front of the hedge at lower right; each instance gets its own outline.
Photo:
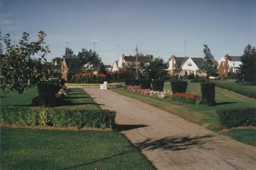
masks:
<instances>
[{"instance_id":1,"label":"small grass patch in front of the hedge at lower right","mask_svg":"<svg viewBox=\"0 0 256 170\"><path fill-rule=\"evenodd\" d=\"M222 134L248 145L256 146L256 129L231 129Z\"/></svg>"}]
</instances>

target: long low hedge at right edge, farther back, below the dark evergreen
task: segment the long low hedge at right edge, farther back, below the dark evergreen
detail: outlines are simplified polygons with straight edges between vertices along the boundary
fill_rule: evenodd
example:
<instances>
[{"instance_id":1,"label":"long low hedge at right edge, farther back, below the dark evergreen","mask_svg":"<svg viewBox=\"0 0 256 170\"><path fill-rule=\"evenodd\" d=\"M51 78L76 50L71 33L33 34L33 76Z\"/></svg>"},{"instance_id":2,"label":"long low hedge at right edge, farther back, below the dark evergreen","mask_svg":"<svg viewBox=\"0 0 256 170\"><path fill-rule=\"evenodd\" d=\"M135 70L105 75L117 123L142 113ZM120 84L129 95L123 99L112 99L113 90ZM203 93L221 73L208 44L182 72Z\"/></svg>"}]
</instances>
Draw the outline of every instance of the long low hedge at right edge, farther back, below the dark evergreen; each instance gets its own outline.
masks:
<instances>
[{"instance_id":1,"label":"long low hedge at right edge, farther back, below the dark evergreen","mask_svg":"<svg viewBox=\"0 0 256 170\"><path fill-rule=\"evenodd\" d=\"M256 92L255 90L246 90L243 88L243 85L230 85L230 83L216 83L217 87L222 89L227 89L232 92L236 92L238 94L242 94L244 96L256 99Z\"/></svg>"}]
</instances>

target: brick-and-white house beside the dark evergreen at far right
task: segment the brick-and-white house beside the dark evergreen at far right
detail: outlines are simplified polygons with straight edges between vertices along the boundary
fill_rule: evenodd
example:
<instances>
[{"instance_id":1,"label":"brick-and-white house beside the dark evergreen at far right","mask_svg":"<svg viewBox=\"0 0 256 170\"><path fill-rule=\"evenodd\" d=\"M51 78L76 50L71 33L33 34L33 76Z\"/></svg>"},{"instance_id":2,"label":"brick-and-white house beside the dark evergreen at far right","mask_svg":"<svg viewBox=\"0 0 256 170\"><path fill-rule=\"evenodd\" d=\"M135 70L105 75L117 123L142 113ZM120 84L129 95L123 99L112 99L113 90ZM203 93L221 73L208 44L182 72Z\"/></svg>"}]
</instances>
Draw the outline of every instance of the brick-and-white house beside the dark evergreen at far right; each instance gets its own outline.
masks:
<instances>
[{"instance_id":1,"label":"brick-and-white house beside the dark evergreen at far right","mask_svg":"<svg viewBox=\"0 0 256 170\"><path fill-rule=\"evenodd\" d=\"M237 73L242 64L240 56L229 56L228 54L219 60L218 73L220 76L228 76L228 73Z\"/></svg>"}]
</instances>

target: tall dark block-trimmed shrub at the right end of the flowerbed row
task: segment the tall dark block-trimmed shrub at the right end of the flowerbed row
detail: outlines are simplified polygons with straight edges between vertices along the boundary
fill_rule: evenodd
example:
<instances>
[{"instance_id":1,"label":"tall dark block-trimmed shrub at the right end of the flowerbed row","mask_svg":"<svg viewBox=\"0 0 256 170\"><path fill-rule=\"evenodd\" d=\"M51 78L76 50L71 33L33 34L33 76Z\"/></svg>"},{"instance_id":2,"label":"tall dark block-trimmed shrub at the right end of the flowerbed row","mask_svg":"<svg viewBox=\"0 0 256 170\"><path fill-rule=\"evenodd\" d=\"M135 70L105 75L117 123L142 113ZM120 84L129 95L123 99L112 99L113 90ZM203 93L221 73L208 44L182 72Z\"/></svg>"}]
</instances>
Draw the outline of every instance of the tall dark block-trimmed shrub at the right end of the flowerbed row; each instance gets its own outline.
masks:
<instances>
[{"instance_id":1,"label":"tall dark block-trimmed shrub at the right end of the flowerbed row","mask_svg":"<svg viewBox=\"0 0 256 170\"><path fill-rule=\"evenodd\" d=\"M202 98L207 106L215 106L215 83L200 83Z\"/></svg>"}]
</instances>

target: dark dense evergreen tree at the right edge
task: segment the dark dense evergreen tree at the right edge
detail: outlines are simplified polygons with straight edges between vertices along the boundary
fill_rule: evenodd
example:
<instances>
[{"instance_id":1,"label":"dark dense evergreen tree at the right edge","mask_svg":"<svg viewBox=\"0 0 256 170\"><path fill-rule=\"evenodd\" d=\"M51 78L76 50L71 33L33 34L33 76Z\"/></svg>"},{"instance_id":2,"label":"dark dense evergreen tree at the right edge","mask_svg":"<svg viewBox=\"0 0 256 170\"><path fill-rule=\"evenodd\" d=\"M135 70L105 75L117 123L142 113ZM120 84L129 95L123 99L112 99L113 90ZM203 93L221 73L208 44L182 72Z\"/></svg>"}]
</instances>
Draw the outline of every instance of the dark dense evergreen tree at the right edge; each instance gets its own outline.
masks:
<instances>
[{"instance_id":1,"label":"dark dense evergreen tree at the right edge","mask_svg":"<svg viewBox=\"0 0 256 170\"><path fill-rule=\"evenodd\" d=\"M251 85L256 85L256 49L247 45L241 57L239 80L244 80Z\"/></svg>"}]
</instances>

